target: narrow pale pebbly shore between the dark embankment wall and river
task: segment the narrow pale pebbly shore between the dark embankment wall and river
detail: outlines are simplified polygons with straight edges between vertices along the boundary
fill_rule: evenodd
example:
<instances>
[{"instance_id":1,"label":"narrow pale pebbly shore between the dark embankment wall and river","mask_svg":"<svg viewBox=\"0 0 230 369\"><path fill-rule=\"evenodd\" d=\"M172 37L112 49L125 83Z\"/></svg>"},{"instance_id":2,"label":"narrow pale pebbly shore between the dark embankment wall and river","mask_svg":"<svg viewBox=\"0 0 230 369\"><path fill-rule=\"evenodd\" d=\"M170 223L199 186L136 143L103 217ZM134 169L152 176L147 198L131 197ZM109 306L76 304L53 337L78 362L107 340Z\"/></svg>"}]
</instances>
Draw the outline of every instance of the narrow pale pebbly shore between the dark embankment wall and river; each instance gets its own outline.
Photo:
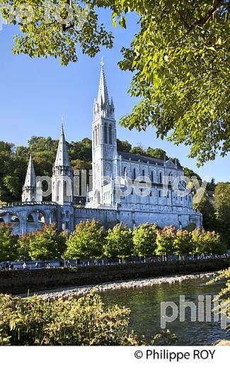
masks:
<instances>
[{"instance_id":1,"label":"narrow pale pebbly shore between the dark embankment wall and river","mask_svg":"<svg viewBox=\"0 0 230 369\"><path fill-rule=\"evenodd\" d=\"M78 287L62 287L56 290L49 291L39 291L36 294L42 296L43 299L57 299L59 297L68 298L68 297L77 297L82 294L87 294L94 288L97 292L103 292L108 290L118 290L120 288L139 288L139 287L147 287L152 285L159 285L161 283L180 283L184 280L194 280L194 279L202 279L202 278L211 278L214 277L216 272L206 272L206 273L192 273L189 275L173 275L173 276L165 276L165 277L154 277L154 278L139 278L135 280L126 280L126 281L115 281L108 283L101 283L100 285L86 285L86 286L78 286ZM21 295L25 297L25 294Z\"/></svg>"}]
</instances>

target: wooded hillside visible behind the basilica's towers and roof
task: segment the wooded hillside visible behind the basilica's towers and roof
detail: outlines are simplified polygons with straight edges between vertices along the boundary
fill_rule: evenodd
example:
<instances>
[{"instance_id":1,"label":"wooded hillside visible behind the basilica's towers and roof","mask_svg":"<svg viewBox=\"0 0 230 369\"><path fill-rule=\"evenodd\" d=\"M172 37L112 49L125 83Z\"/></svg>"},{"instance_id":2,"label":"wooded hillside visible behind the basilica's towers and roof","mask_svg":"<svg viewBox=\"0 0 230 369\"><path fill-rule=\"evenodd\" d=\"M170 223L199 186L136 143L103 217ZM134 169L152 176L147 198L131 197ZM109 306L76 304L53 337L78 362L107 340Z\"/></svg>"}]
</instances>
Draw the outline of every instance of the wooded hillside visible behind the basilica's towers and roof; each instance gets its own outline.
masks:
<instances>
[{"instance_id":1,"label":"wooded hillside visible behind the basilica's towers and roof","mask_svg":"<svg viewBox=\"0 0 230 369\"><path fill-rule=\"evenodd\" d=\"M0 199L2 202L21 201L30 151L33 153L36 175L52 177L57 145L58 141L52 140L51 137L33 136L28 141L28 147L14 147L13 143L0 141ZM67 146L71 165L74 170L79 170L79 173L76 173L79 175L79 195L84 196L81 192L81 170L86 170L86 184L90 184L92 141L84 138L82 141L71 141L67 143ZM132 145L128 141L117 140L117 150L131 152ZM142 150L145 156L154 157L156 155L156 158L163 158L165 155L165 151L160 148L148 148L146 151L142 148ZM46 197L45 200L49 201L50 197Z\"/></svg>"}]
</instances>

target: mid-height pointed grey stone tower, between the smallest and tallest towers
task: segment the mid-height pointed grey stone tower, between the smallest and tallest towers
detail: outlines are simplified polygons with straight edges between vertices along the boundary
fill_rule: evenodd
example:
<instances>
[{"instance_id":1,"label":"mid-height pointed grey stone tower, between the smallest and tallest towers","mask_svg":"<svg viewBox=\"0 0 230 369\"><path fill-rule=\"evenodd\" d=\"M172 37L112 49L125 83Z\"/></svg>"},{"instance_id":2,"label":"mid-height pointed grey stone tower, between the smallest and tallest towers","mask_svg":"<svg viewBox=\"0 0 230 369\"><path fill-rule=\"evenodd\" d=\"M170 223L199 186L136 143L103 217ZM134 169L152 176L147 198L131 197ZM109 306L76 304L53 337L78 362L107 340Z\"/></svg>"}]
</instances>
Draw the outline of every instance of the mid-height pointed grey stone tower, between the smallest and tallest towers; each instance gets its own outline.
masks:
<instances>
[{"instance_id":1,"label":"mid-height pointed grey stone tower, between the smallest and tallest towers","mask_svg":"<svg viewBox=\"0 0 230 369\"><path fill-rule=\"evenodd\" d=\"M63 125L53 167L52 202L60 205L73 202L73 170L69 161Z\"/></svg>"}]
</instances>

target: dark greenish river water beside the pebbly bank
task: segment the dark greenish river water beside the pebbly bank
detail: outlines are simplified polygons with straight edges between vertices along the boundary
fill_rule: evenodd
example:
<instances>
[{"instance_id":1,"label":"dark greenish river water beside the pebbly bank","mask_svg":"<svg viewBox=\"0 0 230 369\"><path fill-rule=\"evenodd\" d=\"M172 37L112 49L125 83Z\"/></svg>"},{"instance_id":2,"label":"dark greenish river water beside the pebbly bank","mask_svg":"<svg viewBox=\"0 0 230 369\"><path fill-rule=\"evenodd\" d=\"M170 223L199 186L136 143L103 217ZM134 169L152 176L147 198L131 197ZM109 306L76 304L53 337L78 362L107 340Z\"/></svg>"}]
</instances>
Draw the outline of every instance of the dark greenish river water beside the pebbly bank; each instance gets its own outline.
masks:
<instances>
[{"instance_id":1,"label":"dark greenish river water beside the pebbly bank","mask_svg":"<svg viewBox=\"0 0 230 369\"><path fill-rule=\"evenodd\" d=\"M199 295L203 295L206 302L207 295L213 297L224 286L222 282L214 285L207 285L206 282L207 279L184 280L174 284L163 283L136 289L109 290L100 294L107 305L119 304L129 307L131 309L130 329L136 331L139 336L144 334L149 340L161 329L161 302L175 302L179 307L180 295L184 295L185 301L194 302L197 308ZM200 307L202 308L201 304ZM172 309L168 308L166 313L171 316ZM230 334L221 328L220 320L214 321L213 313L211 319L212 321L206 321L205 314L205 321L191 321L190 308L187 307L185 321L180 321L178 317L175 321L166 324L166 329L176 334L177 344L180 346L209 345L219 339L230 339Z\"/></svg>"}]
</instances>

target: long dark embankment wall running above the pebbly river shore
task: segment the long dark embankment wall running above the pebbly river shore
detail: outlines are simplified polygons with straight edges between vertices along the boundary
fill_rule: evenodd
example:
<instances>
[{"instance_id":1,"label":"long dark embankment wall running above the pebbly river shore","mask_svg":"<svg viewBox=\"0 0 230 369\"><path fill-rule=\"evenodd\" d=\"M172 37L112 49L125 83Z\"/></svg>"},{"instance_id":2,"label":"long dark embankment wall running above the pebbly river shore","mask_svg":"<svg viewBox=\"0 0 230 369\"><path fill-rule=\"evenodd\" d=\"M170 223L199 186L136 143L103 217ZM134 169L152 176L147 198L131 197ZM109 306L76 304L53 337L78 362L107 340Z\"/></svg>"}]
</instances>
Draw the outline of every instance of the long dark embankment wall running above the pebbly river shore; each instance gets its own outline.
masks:
<instances>
[{"instance_id":1,"label":"long dark embankment wall running above the pebbly river shore","mask_svg":"<svg viewBox=\"0 0 230 369\"><path fill-rule=\"evenodd\" d=\"M189 260L165 263L142 263L133 265L106 265L86 268L38 269L0 271L0 292L27 293L52 290L57 287L95 285L102 282L129 280L162 275L212 272L228 268L230 258Z\"/></svg>"}]
</instances>

